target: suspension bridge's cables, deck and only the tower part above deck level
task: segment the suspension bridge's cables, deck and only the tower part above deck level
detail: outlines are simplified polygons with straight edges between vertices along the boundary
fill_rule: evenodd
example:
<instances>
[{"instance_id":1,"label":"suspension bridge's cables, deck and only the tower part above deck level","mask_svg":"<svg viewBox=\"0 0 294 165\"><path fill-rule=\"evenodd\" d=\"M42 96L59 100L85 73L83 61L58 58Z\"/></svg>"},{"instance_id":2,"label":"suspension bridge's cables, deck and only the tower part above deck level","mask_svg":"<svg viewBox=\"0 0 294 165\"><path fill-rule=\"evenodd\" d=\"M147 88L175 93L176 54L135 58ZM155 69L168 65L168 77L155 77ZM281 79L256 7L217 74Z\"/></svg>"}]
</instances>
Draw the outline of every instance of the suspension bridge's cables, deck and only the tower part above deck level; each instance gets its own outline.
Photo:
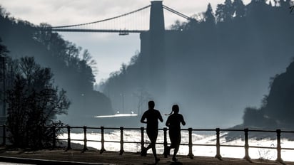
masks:
<instances>
[{"instance_id":1,"label":"suspension bridge's cables, deck and only the tower part above deck level","mask_svg":"<svg viewBox=\"0 0 294 165\"><path fill-rule=\"evenodd\" d=\"M144 6L141 9L105 18L99 21L88 23L78 23L74 25L52 26L46 28L46 31L56 32L96 32L96 33L119 33L119 35L128 35L128 33L143 33L149 30L164 29L163 9L171 14L176 14L186 20L193 18L186 16L174 9L162 4L162 1L151 1L151 5ZM169 29L165 29L170 31Z\"/></svg>"}]
</instances>

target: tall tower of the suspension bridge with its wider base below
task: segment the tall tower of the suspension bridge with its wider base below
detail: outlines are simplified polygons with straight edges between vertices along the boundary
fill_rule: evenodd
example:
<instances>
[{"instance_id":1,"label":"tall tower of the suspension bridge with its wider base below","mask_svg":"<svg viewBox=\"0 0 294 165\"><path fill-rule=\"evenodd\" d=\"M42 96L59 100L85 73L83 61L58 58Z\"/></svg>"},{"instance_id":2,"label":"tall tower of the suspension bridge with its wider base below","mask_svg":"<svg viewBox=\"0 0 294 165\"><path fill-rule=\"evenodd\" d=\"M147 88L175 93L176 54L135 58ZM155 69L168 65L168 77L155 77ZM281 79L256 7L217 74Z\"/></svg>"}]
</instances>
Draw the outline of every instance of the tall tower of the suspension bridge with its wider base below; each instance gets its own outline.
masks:
<instances>
[{"instance_id":1,"label":"tall tower of the suspension bridge with its wider base below","mask_svg":"<svg viewBox=\"0 0 294 165\"><path fill-rule=\"evenodd\" d=\"M149 31L141 33L141 53L151 95L166 93L166 50L162 1L151 1Z\"/></svg>"}]
</instances>

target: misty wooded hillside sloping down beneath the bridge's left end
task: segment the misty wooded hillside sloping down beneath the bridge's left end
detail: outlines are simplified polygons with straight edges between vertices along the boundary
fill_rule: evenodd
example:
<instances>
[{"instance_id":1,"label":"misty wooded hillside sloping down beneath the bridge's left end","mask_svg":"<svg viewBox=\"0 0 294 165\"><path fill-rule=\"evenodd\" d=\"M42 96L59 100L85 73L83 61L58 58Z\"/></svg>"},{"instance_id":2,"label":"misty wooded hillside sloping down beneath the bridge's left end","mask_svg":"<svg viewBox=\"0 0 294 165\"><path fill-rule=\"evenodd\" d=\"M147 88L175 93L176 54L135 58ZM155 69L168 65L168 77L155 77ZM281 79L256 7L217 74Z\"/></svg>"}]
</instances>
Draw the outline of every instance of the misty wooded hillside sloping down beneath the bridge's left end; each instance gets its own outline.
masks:
<instances>
[{"instance_id":1,"label":"misty wooded hillside sloping down beneath the bridge's left end","mask_svg":"<svg viewBox=\"0 0 294 165\"><path fill-rule=\"evenodd\" d=\"M16 19L1 6L0 25L1 44L11 58L34 56L37 63L52 69L56 85L67 91L72 104L69 115L60 118L66 124L89 125L94 115L113 114L110 100L93 90L96 62L88 50L65 41L58 33L40 30L48 24L36 26Z\"/></svg>"}]
</instances>

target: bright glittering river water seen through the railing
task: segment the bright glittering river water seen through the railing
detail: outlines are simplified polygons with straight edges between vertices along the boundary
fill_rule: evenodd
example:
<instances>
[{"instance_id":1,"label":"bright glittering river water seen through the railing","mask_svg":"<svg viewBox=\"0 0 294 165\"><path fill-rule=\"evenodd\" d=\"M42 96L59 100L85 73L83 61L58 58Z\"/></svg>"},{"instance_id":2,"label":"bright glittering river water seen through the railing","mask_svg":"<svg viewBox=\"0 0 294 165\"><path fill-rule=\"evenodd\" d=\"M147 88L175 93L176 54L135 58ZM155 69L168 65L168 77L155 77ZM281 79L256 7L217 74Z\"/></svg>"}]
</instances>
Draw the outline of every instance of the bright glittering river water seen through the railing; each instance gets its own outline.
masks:
<instances>
[{"instance_id":1,"label":"bright glittering river water seen through the railing","mask_svg":"<svg viewBox=\"0 0 294 165\"><path fill-rule=\"evenodd\" d=\"M245 142L242 139L236 139L234 141L226 142L225 133L220 134L220 144L221 145L239 145L244 146ZM181 132L182 140L181 144L188 144L188 132ZM88 141L100 141L101 133L91 132L87 134ZM168 138L168 137L167 137ZM67 134L61 134L59 139L67 139ZM80 139L81 141L71 141L74 143L83 145L83 133L71 133L71 139ZM120 139L121 132L120 130L113 130L111 132L104 133L105 141L116 141L105 142L104 147L106 151L120 151ZM123 150L130 152L140 152L141 151L141 131L140 130L123 130L123 141L124 142L138 142L138 143L124 143ZM150 142L148 140L146 132L144 133L144 141ZM216 145L216 134L192 134L193 144L213 144ZM163 143L163 131L158 132L158 143ZM249 146L257 147L276 147L277 142L275 139L249 139ZM168 143L170 143L168 139ZM145 147L147 144L145 144ZM87 142L87 147L93 147L96 149L101 149L101 142ZM294 142L288 139L281 139L282 148L293 148ZM163 153L163 144L156 144L157 153ZM178 151L179 155L188 155L188 145L181 145ZM148 153L152 153L151 149L148 150ZM171 154L173 149L171 150ZM193 155L194 156L216 156L216 146L213 147L203 147L203 146L193 146ZM245 156L244 147L220 147L220 155L222 157L230 158L243 158ZM294 150L282 149L281 156L283 161L294 161ZM251 159L277 159L277 150L276 149L258 149L258 148L249 148L249 156Z\"/></svg>"}]
</instances>

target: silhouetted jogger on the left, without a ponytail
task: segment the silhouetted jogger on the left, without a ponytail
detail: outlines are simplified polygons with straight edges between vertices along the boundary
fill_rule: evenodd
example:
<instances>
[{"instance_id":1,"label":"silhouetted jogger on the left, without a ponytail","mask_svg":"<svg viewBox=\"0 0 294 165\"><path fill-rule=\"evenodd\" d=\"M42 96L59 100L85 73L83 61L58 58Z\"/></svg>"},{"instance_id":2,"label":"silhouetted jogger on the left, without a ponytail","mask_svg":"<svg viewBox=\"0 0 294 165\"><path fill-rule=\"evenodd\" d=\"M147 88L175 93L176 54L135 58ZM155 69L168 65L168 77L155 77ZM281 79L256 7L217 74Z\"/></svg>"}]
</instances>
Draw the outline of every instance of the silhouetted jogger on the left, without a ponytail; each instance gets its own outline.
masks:
<instances>
[{"instance_id":1,"label":"silhouetted jogger on the left, without a ponytail","mask_svg":"<svg viewBox=\"0 0 294 165\"><path fill-rule=\"evenodd\" d=\"M152 148L152 152L155 158L155 162L157 163L160 159L156 156L156 139L158 135L158 119L163 122L161 117L161 113L158 110L154 109L155 103L153 101L148 102L148 110L144 112L141 122L146 123L146 132L151 141L151 144L148 145L147 148L143 148L141 151L142 156L146 156L148 149ZM147 119L147 121L145 121Z\"/></svg>"}]
</instances>

